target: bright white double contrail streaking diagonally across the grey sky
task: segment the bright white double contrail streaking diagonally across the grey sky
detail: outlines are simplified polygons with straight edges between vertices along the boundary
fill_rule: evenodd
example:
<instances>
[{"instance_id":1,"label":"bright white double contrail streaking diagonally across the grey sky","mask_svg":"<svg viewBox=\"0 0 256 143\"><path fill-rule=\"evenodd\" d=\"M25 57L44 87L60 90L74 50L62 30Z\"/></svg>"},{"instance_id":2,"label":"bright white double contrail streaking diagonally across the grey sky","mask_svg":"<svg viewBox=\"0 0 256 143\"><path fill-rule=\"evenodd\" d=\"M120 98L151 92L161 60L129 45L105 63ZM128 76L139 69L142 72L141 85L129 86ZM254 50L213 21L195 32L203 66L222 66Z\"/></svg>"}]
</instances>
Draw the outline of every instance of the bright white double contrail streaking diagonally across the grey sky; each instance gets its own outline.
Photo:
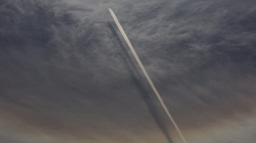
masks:
<instances>
[{"instance_id":1,"label":"bright white double contrail streaking diagonally across the grey sky","mask_svg":"<svg viewBox=\"0 0 256 143\"><path fill-rule=\"evenodd\" d=\"M139 59L139 57L137 56L135 50L132 47L131 42L129 41L129 39L127 38L126 34L124 33L123 28L121 27L120 23L118 22L117 18L115 17L114 12L111 10L111 8L109 8L109 11L112 15L112 17L114 18L115 23L117 24L117 27L119 28L120 32L122 33L122 35L124 36L125 41L127 42L128 46L130 47L132 54L134 55L136 61L139 63L139 66L141 67L142 72L144 73L144 75L147 78L147 81L149 81L149 84L151 85L153 91L156 93L157 98L159 99L159 101L161 102L162 107L164 108L166 114L168 115L169 119L171 120L171 122L173 123L174 127L176 128L177 132L179 133L179 135L181 136L181 139L184 143L187 143L186 139L184 138L184 136L181 133L181 130L179 130L179 127L177 126L177 124L175 123L174 119L172 119L172 116L169 112L169 110L167 109L166 105L164 104L164 101L162 100L161 96L159 95L158 91L156 90L156 87L154 86L153 82L151 81L151 79L149 78L149 75L147 74L147 71L145 70L144 66L141 63L141 60Z\"/></svg>"}]
</instances>

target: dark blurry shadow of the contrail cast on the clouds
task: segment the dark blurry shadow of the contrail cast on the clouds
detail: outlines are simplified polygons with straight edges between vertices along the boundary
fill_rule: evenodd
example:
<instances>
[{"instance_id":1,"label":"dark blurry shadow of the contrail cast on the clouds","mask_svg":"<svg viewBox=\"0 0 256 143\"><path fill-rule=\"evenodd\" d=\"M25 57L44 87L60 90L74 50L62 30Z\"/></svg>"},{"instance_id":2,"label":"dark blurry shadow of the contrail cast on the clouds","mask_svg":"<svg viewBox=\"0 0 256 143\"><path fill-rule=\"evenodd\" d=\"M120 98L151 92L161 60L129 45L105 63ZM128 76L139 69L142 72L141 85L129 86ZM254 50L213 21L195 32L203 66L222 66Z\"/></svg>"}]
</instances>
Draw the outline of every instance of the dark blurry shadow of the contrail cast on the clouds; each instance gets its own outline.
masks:
<instances>
[{"instance_id":1,"label":"dark blurry shadow of the contrail cast on the clouds","mask_svg":"<svg viewBox=\"0 0 256 143\"><path fill-rule=\"evenodd\" d=\"M125 63L127 65L127 69L129 70L129 72L132 75L132 79L134 81L134 84L138 87L139 92L141 93L141 97L144 100L144 102L147 105L147 108L149 109L149 112L151 113L152 117L154 118L157 126L160 128L161 132L164 134L164 136L166 137L166 139L168 140L168 143L173 143L169 132L166 128L166 126L164 125L164 121L161 118L159 112L157 111L157 107L154 104L154 102L152 101L151 97L148 95L145 87L142 85L142 83L140 81L142 81L142 76L139 73L139 71L137 70L134 62L132 62L132 59L129 55L129 53L127 52L127 50L124 47L124 44L122 43L122 41L120 40L120 37L117 35L115 29L113 28L112 24L110 22L108 22L109 28L111 29L111 31L113 32L115 38L117 39L117 42L119 44L119 46L122 48L126 58L125 58ZM132 68L129 66L129 63L131 64ZM136 77L137 75L137 77Z\"/></svg>"}]
</instances>

